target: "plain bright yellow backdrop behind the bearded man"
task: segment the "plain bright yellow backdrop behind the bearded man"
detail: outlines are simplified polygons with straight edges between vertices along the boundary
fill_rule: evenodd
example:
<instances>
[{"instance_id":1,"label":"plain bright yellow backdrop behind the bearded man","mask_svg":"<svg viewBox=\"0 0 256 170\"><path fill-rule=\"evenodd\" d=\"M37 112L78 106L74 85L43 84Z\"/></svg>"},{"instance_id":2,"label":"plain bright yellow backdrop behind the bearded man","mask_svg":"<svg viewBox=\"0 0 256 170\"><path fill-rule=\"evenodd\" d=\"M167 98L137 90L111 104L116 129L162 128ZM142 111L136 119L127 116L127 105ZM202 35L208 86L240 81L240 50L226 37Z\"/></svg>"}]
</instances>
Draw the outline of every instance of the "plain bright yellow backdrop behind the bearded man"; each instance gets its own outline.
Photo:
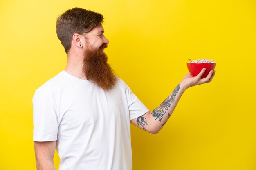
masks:
<instances>
[{"instance_id":1,"label":"plain bright yellow backdrop behind the bearded man","mask_svg":"<svg viewBox=\"0 0 256 170\"><path fill-rule=\"evenodd\" d=\"M187 58L217 63L157 135L132 125L134 170L256 170L255 0L1 0L0 170L36 169L32 97L65 69L56 17L72 7L104 15L109 63L150 110Z\"/></svg>"}]
</instances>

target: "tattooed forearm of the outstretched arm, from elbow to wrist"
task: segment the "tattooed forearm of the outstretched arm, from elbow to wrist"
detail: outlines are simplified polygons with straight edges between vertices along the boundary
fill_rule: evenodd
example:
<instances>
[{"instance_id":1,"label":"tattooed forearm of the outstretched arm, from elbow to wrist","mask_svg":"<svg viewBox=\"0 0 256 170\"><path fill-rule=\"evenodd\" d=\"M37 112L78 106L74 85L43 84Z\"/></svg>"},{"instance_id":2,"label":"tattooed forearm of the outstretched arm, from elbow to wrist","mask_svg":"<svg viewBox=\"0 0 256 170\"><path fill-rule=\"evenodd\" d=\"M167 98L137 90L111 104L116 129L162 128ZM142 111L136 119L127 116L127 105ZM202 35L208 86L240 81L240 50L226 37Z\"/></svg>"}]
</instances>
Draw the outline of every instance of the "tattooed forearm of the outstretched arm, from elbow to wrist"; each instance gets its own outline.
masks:
<instances>
[{"instance_id":1,"label":"tattooed forearm of the outstretched arm, from elbow to wrist","mask_svg":"<svg viewBox=\"0 0 256 170\"><path fill-rule=\"evenodd\" d=\"M178 84L173 92L157 108L149 113L147 130L150 133L156 134L163 128L185 90L186 87L183 84Z\"/></svg>"}]
</instances>

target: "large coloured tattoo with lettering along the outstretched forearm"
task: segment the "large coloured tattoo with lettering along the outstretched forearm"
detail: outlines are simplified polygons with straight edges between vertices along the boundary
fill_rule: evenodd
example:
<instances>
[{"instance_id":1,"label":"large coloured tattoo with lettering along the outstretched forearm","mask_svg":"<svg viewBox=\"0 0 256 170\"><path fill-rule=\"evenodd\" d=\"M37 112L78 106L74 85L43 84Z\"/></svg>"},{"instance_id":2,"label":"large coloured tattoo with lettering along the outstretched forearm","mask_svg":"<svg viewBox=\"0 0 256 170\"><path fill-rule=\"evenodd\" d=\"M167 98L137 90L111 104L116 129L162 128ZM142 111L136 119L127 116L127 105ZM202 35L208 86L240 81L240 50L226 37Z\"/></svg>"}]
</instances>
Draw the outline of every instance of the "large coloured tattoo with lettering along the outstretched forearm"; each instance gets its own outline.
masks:
<instances>
[{"instance_id":1,"label":"large coloured tattoo with lettering along the outstretched forearm","mask_svg":"<svg viewBox=\"0 0 256 170\"><path fill-rule=\"evenodd\" d=\"M151 114L153 117L156 117L155 120L158 119L161 122L164 114L166 113L166 110L168 110L169 107L171 106L171 104L174 101L174 98L178 94L179 90L180 90L180 84L178 84L175 87L175 89L173 90L173 92L170 96L168 96L156 109L154 109L152 111Z\"/></svg>"}]
</instances>

